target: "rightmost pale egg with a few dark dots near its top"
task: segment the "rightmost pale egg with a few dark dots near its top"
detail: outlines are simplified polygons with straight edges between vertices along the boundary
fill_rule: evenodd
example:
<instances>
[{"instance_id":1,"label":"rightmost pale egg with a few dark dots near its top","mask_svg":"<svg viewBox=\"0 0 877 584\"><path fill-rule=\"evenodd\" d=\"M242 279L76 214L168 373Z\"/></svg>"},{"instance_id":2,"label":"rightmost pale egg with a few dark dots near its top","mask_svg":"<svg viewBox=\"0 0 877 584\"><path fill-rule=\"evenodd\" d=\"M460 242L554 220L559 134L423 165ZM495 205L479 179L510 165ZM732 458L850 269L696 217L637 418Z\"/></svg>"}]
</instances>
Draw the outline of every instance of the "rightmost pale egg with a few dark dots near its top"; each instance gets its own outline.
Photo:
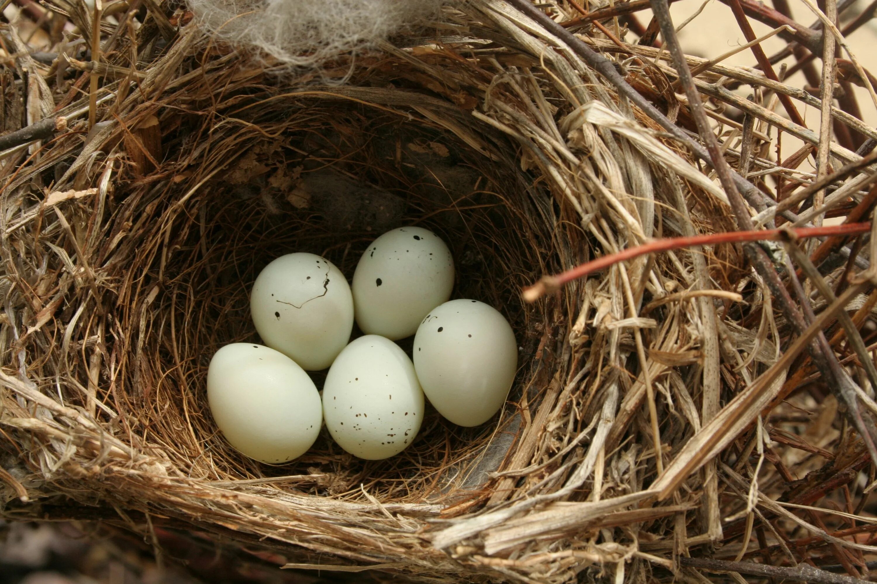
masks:
<instances>
[{"instance_id":1,"label":"rightmost pale egg with a few dark dots near its top","mask_svg":"<svg viewBox=\"0 0 877 584\"><path fill-rule=\"evenodd\" d=\"M493 307L451 300L432 309L417 328L414 368L441 415L460 426L478 426L503 406L515 379L515 334Z\"/></svg>"}]
</instances>

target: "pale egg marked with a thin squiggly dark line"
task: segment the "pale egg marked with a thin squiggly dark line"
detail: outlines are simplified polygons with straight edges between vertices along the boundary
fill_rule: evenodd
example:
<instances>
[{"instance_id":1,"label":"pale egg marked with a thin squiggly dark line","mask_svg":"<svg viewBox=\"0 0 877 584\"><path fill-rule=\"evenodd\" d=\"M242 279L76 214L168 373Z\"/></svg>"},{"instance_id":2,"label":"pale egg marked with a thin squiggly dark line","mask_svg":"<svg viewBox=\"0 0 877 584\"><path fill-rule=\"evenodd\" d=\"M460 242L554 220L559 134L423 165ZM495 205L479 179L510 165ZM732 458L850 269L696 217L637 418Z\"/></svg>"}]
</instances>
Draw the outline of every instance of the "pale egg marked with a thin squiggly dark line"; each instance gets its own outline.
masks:
<instances>
[{"instance_id":1,"label":"pale egg marked with a thin squiggly dark line","mask_svg":"<svg viewBox=\"0 0 877 584\"><path fill-rule=\"evenodd\" d=\"M262 341L309 371L329 367L353 329L344 274L310 253L267 264L253 284L250 312Z\"/></svg>"}]
</instances>

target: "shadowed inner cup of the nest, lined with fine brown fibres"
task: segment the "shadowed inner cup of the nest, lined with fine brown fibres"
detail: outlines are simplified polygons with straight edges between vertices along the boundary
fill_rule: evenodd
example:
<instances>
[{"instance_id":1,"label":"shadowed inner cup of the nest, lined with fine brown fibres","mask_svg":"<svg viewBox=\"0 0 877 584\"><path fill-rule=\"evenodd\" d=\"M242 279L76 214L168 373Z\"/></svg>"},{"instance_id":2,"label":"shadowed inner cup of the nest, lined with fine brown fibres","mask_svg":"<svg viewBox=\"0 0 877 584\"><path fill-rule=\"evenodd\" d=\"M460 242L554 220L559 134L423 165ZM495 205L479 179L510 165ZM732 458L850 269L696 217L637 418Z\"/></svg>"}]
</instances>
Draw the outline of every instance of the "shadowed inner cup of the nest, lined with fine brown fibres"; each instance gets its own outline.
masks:
<instances>
[{"instance_id":1,"label":"shadowed inner cup of the nest, lined with fine brown fibres","mask_svg":"<svg viewBox=\"0 0 877 584\"><path fill-rule=\"evenodd\" d=\"M498 426L512 418L519 426L515 402L538 344L528 323L541 318L523 306L519 291L549 231L533 221L529 186L511 159L485 165L483 154L424 120L321 93L241 112L253 130L244 137L235 129L233 148L223 139L213 143L220 158L212 164L221 171L194 193L197 174L152 186L139 201L129 197L132 213L143 214L144 237L118 273L131 283L126 304L139 306L126 318L115 313L129 331L127 406L136 427L174 445L168 454L190 476L302 475L290 488L312 496L359 500L365 489L382 502L453 499L460 489L480 489L505 458L511 436ZM248 99L271 95L275 89ZM199 164L185 147L179 156ZM210 418L205 379L218 348L260 342L249 292L261 269L304 251L326 257L350 280L374 237L404 225L431 229L448 243L454 298L496 306L515 328L522 370L509 407L475 428L454 426L430 409L411 446L385 461L346 454L325 430L307 454L275 468L234 451ZM409 355L411 341L401 341ZM325 371L310 375L322 388ZM498 449L486 449L491 442Z\"/></svg>"}]
</instances>

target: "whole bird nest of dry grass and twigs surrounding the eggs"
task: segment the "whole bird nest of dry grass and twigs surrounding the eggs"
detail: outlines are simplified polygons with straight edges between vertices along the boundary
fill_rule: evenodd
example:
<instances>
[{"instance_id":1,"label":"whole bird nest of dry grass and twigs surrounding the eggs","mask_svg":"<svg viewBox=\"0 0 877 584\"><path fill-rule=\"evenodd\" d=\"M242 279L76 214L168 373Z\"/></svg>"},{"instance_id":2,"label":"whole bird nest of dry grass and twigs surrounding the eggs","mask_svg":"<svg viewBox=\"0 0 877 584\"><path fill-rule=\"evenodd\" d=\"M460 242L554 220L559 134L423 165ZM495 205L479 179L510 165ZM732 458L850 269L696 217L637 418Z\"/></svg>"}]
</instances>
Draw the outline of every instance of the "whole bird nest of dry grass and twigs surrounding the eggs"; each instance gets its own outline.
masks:
<instances>
[{"instance_id":1,"label":"whole bird nest of dry grass and twigs surrounding the eggs","mask_svg":"<svg viewBox=\"0 0 877 584\"><path fill-rule=\"evenodd\" d=\"M866 571L877 292L849 234L875 201L877 133L836 108L830 123L872 141L820 140L773 110L817 97L683 57L661 18L668 50L623 42L613 19L639 4L456 5L318 74L157 3L104 22L100 60L69 50L51 69L6 26L4 517L101 519L172 556L162 530L189 530L290 568L413 580ZM54 10L90 43L74 8ZM745 85L752 100L728 88ZM777 132L804 140L796 158L771 158ZM846 230L807 231L828 211ZM325 431L282 466L237 453L205 378L217 348L259 341L260 269L309 251L350 277L400 225L439 233L455 296L510 320L503 411L461 428L428 409L386 461Z\"/></svg>"}]
</instances>

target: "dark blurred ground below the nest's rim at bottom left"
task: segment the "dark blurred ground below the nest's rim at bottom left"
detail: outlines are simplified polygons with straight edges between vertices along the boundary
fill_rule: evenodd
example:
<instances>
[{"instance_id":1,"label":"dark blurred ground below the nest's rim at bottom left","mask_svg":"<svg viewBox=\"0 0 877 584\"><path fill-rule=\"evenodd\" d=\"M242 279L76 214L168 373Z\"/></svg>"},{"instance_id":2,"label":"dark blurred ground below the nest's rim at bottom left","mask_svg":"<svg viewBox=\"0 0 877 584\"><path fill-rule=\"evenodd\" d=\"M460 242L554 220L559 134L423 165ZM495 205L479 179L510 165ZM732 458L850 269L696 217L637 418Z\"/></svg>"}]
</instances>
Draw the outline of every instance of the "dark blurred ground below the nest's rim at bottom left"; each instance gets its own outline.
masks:
<instances>
[{"instance_id":1,"label":"dark blurred ground below the nest's rim at bottom left","mask_svg":"<svg viewBox=\"0 0 877 584\"><path fill-rule=\"evenodd\" d=\"M0 521L0 584L346 584L402 581L370 573L282 570L255 544L225 547L216 533L155 526L134 534L104 522Z\"/></svg>"}]
</instances>

